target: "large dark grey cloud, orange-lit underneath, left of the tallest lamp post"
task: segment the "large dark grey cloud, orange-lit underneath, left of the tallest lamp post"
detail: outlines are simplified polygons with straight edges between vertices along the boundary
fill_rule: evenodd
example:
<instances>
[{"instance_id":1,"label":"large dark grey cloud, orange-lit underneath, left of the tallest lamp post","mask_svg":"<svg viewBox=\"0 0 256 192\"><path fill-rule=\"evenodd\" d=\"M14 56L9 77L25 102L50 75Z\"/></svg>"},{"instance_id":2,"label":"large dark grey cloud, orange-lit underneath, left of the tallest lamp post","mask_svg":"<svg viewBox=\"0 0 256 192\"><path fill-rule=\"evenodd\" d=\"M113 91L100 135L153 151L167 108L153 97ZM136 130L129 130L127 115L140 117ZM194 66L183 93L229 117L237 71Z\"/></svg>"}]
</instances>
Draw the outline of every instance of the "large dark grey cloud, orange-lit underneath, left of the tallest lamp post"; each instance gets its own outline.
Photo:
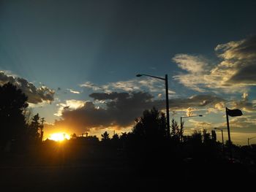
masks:
<instances>
[{"instance_id":1,"label":"large dark grey cloud, orange-lit underneath, left of the tallest lamp post","mask_svg":"<svg viewBox=\"0 0 256 192\"><path fill-rule=\"evenodd\" d=\"M151 108L152 96L148 93L93 93L93 99L110 100L105 107L97 107L91 101L85 101L75 110L61 110L62 120L56 126L69 125L75 130L89 131L90 128L110 126L130 126L144 109ZM68 104L61 104L61 107Z\"/></svg>"}]
</instances>

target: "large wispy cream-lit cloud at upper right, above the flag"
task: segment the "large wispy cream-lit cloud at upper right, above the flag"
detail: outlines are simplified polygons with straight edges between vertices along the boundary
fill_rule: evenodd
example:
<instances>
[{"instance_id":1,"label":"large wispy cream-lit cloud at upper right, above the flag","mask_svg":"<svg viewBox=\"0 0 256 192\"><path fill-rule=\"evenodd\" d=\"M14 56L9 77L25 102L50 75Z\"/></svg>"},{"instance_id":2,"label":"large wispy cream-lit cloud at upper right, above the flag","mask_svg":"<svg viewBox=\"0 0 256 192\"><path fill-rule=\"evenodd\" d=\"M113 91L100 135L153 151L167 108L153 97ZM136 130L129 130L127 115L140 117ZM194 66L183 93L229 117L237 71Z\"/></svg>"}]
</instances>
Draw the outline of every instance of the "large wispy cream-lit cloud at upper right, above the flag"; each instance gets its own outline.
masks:
<instances>
[{"instance_id":1,"label":"large wispy cream-lit cloud at upper right, above the flag","mask_svg":"<svg viewBox=\"0 0 256 192\"><path fill-rule=\"evenodd\" d=\"M173 78L195 91L220 90L244 92L249 85L256 85L256 36L237 42L217 45L221 61L209 65L202 56L178 54L173 61L187 71Z\"/></svg>"}]
</instances>

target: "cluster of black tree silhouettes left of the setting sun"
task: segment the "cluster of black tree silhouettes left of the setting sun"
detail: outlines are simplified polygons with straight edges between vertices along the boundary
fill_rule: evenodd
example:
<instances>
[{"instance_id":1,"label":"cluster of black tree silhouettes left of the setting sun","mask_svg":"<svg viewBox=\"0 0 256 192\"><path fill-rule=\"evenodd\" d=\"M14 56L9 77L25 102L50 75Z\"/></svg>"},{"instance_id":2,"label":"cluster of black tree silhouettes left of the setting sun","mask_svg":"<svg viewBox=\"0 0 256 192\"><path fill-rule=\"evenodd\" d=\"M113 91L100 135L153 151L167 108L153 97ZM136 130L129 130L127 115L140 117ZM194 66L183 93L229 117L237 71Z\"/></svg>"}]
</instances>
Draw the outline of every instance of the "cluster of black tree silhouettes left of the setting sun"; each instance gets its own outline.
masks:
<instances>
[{"instance_id":1,"label":"cluster of black tree silhouettes left of the setting sun","mask_svg":"<svg viewBox=\"0 0 256 192\"><path fill-rule=\"evenodd\" d=\"M38 113L32 115L28 97L10 82L0 86L0 96L0 149L41 142L43 118Z\"/></svg>"}]
</instances>

